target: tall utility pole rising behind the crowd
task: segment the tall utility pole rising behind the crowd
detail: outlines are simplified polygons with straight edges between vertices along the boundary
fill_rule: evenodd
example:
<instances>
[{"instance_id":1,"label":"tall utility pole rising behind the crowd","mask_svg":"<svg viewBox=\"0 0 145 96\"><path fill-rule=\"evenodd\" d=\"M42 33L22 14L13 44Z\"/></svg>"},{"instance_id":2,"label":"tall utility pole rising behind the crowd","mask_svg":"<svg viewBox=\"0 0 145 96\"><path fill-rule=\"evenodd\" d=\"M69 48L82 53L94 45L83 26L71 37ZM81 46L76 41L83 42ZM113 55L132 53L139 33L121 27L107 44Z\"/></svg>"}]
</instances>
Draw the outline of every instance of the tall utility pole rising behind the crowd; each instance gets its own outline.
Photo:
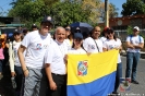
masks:
<instances>
[{"instance_id":1,"label":"tall utility pole rising behind the crowd","mask_svg":"<svg viewBox=\"0 0 145 96\"><path fill-rule=\"evenodd\" d=\"M105 26L109 26L108 0L105 0Z\"/></svg>"}]
</instances>

